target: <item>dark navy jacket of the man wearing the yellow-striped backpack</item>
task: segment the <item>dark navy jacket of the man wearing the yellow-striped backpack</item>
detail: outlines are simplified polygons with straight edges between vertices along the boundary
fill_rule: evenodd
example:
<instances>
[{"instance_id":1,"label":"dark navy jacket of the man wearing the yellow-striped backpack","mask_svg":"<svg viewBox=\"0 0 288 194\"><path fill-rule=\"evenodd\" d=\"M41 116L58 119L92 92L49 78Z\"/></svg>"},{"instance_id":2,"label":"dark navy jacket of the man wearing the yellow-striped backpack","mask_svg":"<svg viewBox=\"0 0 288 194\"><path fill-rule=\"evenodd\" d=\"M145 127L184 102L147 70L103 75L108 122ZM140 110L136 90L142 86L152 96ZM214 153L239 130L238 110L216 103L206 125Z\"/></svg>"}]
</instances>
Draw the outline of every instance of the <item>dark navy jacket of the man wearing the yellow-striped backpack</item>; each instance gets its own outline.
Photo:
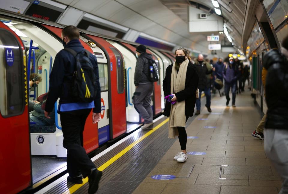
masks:
<instances>
[{"instance_id":1,"label":"dark navy jacket of the man wearing the yellow-striped backpack","mask_svg":"<svg viewBox=\"0 0 288 194\"><path fill-rule=\"evenodd\" d=\"M65 48L70 48L75 50L77 53L84 50L84 47L80 43L79 40L70 40ZM94 100L94 109L93 112L100 113L101 112L101 91L100 91L100 83L99 83L99 72L98 72L98 64L97 58L94 55L89 55L89 59L94 67L94 72L97 77L97 98ZM49 93L46 101L45 110L47 112L51 112L54 108L54 104L58 98L60 98L59 104L66 103L78 103L70 98L70 91L72 88L73 81L73 72L75 71L75 58L74 56L66 51L61 50L57 53L53 68L49 77ZM83 103L79 103L80 107ZM79 109L79 106L78 106Z\"/></svg>"}]
</instances>

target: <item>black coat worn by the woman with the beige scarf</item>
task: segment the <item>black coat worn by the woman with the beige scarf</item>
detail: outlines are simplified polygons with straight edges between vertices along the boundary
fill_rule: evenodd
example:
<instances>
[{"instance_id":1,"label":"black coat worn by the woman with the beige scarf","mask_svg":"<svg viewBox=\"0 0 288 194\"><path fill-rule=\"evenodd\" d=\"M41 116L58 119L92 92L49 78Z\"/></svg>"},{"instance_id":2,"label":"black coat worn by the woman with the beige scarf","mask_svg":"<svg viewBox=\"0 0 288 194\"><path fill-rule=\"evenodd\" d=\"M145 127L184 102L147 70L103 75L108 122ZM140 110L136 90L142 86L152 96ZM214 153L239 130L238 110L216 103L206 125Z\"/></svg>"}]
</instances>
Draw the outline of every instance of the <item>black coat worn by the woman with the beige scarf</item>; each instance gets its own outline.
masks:
<instances>
[{"instance_id":1,"label":"black coat worn by the woman with the beige scarf","mask_svg":"<svg viewBox=\"0 0 288 194\"><path fill-rule=\"evenodd\" d=\"M172 67L173 67L173 64L167 67L166 76L163 80L163 91L164 91L165 96L168 96L171 94L170 85L171 85ZM192 63L189 61L189 64L187 66L185 89L175 94L178 102L185 100L186 118L193 116L194 107L196 103L196 89L198 86L198 82L199 82L198 73L195 67L193 67ZM163 115L169 117L170 109L171 109L171 103L166 103Z\"/></svg>"}]
</instances>

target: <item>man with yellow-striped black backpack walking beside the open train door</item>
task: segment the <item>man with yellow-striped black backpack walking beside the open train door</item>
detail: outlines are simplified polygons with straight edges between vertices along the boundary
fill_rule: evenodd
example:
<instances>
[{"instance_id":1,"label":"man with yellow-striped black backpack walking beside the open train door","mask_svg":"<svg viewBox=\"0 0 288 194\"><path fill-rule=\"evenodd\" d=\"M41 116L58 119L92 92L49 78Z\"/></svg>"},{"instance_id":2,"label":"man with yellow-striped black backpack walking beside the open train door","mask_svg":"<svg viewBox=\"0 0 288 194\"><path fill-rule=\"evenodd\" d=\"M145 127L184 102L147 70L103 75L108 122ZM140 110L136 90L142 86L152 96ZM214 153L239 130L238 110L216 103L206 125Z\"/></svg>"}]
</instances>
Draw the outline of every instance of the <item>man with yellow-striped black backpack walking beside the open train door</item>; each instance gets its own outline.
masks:
<instances>
[{"instance_id":1,"label":"man with yellow-striped black backpack walking beside the open train door","mask_svg":"<svg viewBox=\"0 0 288 194\"><path fill-rule=\"evenodd\" d=\"M63 147L67 149L67 182L82 184L82 176L88 176L90 194L98 190L102 172L96 169L83 148L83 130L91 109L93 123L100 120L101 96L97 58L84 49L79 35L79 30L72 25L62 30L64 49L54 60L44 113L50 118L49 113L60 98L58 113Z\"/></svg>"}]
</instances>

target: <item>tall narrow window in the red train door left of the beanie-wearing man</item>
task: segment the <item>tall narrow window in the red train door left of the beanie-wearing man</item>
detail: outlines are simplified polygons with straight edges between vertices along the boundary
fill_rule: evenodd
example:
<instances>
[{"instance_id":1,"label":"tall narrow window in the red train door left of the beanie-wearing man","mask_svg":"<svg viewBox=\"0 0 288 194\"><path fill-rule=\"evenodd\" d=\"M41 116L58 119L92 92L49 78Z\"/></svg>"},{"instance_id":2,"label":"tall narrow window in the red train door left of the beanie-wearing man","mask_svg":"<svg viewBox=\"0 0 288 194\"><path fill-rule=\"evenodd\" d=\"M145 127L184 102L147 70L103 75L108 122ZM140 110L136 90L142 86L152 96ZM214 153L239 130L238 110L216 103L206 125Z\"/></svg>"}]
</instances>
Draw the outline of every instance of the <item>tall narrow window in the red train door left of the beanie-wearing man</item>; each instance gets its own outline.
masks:
<instances>
[{"instance_id":1,"label":"tall narrow window in the red train door left of the beanie-wearing man","mask_svg":"<svg viewBox=\"0 0 288 194\"><path fill-rule=\"evenodd\" d=\"M116 70L117 70L117 90L119 94L124 92L124 60L120 54L120 52L110 47L113 51L114 55L116 56Z\"/></svg>"}]
</instances>

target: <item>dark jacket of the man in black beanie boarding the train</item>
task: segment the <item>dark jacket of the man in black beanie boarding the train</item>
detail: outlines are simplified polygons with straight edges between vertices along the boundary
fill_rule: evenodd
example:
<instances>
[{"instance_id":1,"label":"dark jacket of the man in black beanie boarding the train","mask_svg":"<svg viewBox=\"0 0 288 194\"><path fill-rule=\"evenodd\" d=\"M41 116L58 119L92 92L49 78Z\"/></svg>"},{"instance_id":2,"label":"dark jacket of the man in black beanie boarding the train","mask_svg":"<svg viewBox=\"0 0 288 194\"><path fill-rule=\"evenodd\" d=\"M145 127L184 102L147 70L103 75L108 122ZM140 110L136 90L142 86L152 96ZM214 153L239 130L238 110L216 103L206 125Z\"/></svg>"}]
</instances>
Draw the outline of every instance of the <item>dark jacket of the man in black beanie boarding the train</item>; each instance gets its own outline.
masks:
<instances>
[{"instance_id":1,"label":"dark jacket of the man in black beanie boarding the train","mask_svg":"<svg viewBox=\"0 0 288 194\"><path fill-rule=\"evenodd\" d=\"M139 84L150 83L149 76L149 60L152 60L152 55L147 52L143 52L137 59L134 75L134 84L138 86Z\"/></svg>"}]
</instances>

